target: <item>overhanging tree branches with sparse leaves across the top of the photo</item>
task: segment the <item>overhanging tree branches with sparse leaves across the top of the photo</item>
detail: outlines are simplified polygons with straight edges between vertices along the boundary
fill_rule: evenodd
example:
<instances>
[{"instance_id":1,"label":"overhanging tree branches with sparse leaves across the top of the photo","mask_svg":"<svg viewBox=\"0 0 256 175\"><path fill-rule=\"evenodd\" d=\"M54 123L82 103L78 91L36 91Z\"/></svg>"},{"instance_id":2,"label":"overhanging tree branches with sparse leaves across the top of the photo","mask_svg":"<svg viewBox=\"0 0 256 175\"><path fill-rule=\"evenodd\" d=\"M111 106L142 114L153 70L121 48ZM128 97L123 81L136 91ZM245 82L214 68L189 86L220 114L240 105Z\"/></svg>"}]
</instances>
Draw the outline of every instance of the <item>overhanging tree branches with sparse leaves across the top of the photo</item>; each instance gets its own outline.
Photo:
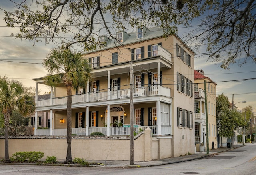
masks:
<instances>
[{"instance_id":1,"label":"overhanging tree branches with sparse leaves across the top of the photo","mask_svg":"<svg viewBox=\"0 0 256 175\"><path fill-rule=\"evenodd\" d=\"M17 38L44 38L67 48L79 44L91 50L99 36L137 26L159 26L168 37L177 26L198 26L186 36L196 48L207 44L209 59L222 68L240 60L244 64L254 50L256 2L254 0L24 0L13 12L5 12L7 26L19 26ZM118 40L116 40L118 42ZM223 58L225 59L223 59Z\"/></svg>"}]
</instances>

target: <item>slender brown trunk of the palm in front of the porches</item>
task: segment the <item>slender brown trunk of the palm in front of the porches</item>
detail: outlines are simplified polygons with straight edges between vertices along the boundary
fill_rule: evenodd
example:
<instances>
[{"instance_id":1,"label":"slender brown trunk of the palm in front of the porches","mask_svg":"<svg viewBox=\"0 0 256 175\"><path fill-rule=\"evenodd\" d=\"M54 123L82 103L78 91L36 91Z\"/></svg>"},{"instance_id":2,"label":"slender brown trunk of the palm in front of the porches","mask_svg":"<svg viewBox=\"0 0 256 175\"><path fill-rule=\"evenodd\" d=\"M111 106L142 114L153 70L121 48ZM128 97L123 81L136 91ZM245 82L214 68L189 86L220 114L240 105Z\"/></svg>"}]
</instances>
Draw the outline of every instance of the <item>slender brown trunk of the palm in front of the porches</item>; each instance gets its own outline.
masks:
<instances>
[{"instance_id":1,"label":"slender brown trunk of the palm in front of the porches","mask_svg":"<svg viewBox=\"0 0 256 175\"><path fill-rule=\"evenodd\" d=\"M71 156L71 139L72 139L72 123L71 123L71 104L72 104L72 93L71 86L66 86L67 88L67 157L65 162L72 162Z\"/></svg>"}]
</instances>

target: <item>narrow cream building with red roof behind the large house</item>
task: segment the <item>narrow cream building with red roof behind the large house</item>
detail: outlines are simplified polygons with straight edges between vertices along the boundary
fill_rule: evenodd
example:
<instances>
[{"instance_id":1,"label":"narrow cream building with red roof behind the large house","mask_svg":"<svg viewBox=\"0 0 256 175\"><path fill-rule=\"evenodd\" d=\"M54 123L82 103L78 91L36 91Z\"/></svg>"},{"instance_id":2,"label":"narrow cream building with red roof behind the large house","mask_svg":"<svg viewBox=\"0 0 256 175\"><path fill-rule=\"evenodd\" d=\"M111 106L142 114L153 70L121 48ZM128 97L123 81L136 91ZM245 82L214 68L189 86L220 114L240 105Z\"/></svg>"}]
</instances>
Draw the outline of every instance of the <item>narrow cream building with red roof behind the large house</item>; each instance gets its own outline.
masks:
<instances>
[{"instance_id":1,"label":"narrow cream building with red roof behind the large house","mask_svg":"<svg viewBox=\"0 0 256 175\"><path fill-rule=\"evenodd\" d=\"M208 138L209 149L217 149L216 122L216 83L204 76L203 70L194 70L195 75L195 143L202 143L206 148L206 109L204 80L206 80L206 94L208 107Z\"/></svg>"}]
</instances>

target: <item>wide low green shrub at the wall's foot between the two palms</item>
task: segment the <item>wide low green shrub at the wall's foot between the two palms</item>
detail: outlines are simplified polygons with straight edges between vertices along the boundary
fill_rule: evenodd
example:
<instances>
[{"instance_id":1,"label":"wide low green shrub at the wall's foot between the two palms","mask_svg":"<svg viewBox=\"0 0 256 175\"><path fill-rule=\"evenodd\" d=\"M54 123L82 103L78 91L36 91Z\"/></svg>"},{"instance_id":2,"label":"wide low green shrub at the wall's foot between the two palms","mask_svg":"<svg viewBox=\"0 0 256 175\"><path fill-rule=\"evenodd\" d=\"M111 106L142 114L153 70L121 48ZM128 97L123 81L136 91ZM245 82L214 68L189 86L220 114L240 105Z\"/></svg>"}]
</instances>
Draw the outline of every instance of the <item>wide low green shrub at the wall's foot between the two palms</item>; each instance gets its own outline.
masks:
<instances>
[{"instance_id":1,"label":"wide low green shrub at the wall's foot between the two palms","mask_svg":"<svg viewBox=\"0 0 256 175\"><path fill-rule=\"evenodd\" d=\"M16 162L25 162L27 160L29 163L36 163L36 161L38 161L42 157L44 157L43 152L16 152L12 155L10 160Z\"/></svg>"}]
</instances>

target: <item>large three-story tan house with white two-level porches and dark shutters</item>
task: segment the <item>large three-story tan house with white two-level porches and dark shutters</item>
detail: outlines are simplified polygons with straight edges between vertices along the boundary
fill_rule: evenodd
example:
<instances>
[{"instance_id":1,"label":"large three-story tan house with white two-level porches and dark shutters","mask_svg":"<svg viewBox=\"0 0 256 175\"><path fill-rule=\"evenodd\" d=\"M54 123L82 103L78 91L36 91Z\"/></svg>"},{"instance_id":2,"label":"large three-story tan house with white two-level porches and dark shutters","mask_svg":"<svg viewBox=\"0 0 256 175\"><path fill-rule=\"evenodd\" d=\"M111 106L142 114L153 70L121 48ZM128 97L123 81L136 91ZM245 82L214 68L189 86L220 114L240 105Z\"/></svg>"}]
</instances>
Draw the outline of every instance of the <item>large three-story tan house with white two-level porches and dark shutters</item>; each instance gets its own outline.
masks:
<instances>
[{"instance_id":1,"label":"large three-story tan house with white two-level porches and dark shutters","mask_svg":"<svg viewBox=\"0 0 256 175\"><path fill-rule=\"evenodd\" d=\"M195 53L176 34L164 38L157 27L120 31L117 38L122 46L102 36L104 46L84 53L93 81L72 91L72 133L130 135L129 76L133 71L135 131L149 127L154 141L164 140L168 149L162 157L194 153ZM33 80L36 89L38 83L44 84L43 78ZM50 112L50 129L35 126L35 135L66 135L66 87L60 84L51 92L50 99L36 99L37 112Z\"/></svg>"}]
</instances>

